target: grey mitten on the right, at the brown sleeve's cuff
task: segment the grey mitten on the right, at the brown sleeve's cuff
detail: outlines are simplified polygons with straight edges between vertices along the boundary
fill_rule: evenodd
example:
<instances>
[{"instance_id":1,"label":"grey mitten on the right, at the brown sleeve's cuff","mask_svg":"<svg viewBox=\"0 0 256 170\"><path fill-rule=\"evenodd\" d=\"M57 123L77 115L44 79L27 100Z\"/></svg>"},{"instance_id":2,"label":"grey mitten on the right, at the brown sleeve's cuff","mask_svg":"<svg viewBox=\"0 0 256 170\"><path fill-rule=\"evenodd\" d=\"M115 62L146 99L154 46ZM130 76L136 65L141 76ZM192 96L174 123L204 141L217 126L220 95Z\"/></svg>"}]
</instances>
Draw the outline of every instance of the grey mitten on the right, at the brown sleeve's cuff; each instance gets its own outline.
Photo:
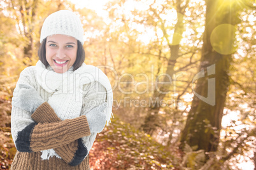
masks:
<instances>
[{"instance_id":1,"label":"grey mitten on the right, at the brown sleeve's cuff","mask_svg":"<svg viewBox=\"0 0 256 170\"><path fill-rule=\"evenodd\" d=\"M105 108L106 103L103 103L99 107L90 110L86 115L90 133L100 133L103 131L106 124L106 113L104 113Z\"/></svg>"}]
</instances>

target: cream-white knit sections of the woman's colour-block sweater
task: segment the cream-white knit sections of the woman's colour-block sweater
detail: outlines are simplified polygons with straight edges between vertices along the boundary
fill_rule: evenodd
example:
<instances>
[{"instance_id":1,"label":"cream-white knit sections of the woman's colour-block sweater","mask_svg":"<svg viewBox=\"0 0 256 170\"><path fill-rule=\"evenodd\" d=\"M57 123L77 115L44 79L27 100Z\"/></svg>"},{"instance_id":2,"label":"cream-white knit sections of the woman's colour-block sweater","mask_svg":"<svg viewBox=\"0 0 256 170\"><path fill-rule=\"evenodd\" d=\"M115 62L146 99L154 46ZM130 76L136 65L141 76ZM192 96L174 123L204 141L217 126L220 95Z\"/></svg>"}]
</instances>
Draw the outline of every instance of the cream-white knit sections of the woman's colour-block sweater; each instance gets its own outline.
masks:
<instances>
[{"instance_id":1,"label":"cream-white knit sections of the woman's colour-block sweater","mask_svg":"<svg viewBox=\"0 0 256 170\"><path fill-rule=\"evenodd\" d=\"M48 101L52 93L48 93L45 89L41 88L38 81L36 80L36 67L27 67L20 74L20 79L18 79L18 84L27 84L29 83L36 91L38 91L39 95L43 98L43 100ZM101 93L96 93L97 91ZM95 108L101 105L103 102L106 102L106 89L104 86L99 84L99 82L94 81L89 84L85 84L83 86L83 103L82 110L80 115L86 115L92 108ZM92 102L93 101L93 102ZM13 136L14 142L17 140L18 131L22 131L26 126L31 124L33 119L31 118L31 113L22 110L21 108L12 107L11 110L11 134ZM82 141L87 147L87 150L90 151L92 148L92 144L96 139L97 133L91 133L90 136L85 136L82 138Z\"/></svg>"}]
</instances>

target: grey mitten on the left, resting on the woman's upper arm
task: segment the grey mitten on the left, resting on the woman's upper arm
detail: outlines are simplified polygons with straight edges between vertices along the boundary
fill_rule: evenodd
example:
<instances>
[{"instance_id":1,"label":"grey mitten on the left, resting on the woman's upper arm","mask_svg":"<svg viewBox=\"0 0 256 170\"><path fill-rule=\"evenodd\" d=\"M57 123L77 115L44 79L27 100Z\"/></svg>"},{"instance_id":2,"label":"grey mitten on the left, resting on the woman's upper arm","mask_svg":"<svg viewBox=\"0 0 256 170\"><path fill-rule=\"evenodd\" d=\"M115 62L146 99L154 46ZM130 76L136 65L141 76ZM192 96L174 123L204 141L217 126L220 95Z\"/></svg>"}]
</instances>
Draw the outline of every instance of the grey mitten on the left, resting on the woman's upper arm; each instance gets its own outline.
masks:
<instances>
[{"instance_id":1,"label":"grey mitten on the left, resting on the woman's upper arm","mask_svg":"<svg viewBox=\"0 0 256 170\"><path fill-rule=\"evenodd\" d=\"M45 101L32 86L18 84L18 88L13 91L12 105L33 113L39 105Z\"/></svg>"}]
</instances>

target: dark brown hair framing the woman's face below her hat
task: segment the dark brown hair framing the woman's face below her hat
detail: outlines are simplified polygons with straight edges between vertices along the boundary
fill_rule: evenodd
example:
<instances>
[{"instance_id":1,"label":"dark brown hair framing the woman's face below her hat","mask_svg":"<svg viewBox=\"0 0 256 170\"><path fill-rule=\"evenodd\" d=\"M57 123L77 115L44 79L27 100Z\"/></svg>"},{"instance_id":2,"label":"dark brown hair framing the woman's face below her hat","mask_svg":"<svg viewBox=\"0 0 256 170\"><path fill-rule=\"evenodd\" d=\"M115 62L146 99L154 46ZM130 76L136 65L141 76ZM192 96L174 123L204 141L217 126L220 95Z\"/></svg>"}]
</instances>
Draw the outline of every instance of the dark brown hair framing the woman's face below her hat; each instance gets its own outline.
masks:
<instances>
[{"instance_id":1,"label":"dark brown hair framing the woman's face below her hat","mask_svg":"<svg viewBox=\"0 0 256 170\"><path fill-rule=\"evenodd\" d=\"M41 46L38 49L38 56L39 60L45 65L45 67L48 67L49 63L46 60L46 49L45 49L45 44L46 44L46 38L43 39L41 42ZM73 71L81 67L83 62L85 62L85 49L83 49L83 45L80 41L77 41L77 52L76 52L76 61L73 64Z\"/></svg>"}]
</instances>

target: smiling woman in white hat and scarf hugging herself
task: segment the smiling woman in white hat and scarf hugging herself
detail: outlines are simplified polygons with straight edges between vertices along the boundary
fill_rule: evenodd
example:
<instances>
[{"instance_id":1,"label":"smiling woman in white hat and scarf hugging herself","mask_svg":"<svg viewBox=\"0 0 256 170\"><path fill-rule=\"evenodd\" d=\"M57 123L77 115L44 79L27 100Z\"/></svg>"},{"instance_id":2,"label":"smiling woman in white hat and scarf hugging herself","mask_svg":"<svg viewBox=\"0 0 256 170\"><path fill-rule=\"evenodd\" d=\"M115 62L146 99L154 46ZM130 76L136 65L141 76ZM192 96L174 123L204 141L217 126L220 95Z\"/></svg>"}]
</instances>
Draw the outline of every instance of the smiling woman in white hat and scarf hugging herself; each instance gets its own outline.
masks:
<instances>
[{"instance_id":1,"label":"smiling woman in white hat and scarf hugging herself","mask_svg":"<svg viewBox=\"0 0 256 170\"><path fill-rule=\"evenodd\" d=\"M90 169L90 148L111 118L110 82L83 63L83 27L71 11L49 15L40 42L38 63L13 92L11 169Z\"/></svg>"}]
</instances>

